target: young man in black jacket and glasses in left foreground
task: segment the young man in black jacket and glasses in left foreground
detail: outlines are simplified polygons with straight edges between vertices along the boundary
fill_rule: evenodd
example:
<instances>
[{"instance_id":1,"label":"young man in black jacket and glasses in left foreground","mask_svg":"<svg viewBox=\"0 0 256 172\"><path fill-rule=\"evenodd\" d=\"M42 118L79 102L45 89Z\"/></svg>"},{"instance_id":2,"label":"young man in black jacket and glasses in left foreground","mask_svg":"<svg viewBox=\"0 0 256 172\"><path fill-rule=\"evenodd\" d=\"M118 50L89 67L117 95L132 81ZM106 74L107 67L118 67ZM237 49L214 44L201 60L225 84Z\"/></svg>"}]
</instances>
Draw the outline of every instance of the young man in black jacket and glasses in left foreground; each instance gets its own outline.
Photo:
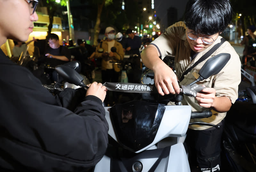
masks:
<instances>
[{"instance_id":1,"label":"young man in black jacket and glasses in left foreground","mask_svg":"<svg viewBox=\"0 0 256 172\"><path fill-rule=\"evenodd\" d=\"M0 0L0 45L26 41L38 0ZM86 171L103 157L106 87L65 89L53 97L0 50L0 171Z\"/></svg>"}]
</instances>

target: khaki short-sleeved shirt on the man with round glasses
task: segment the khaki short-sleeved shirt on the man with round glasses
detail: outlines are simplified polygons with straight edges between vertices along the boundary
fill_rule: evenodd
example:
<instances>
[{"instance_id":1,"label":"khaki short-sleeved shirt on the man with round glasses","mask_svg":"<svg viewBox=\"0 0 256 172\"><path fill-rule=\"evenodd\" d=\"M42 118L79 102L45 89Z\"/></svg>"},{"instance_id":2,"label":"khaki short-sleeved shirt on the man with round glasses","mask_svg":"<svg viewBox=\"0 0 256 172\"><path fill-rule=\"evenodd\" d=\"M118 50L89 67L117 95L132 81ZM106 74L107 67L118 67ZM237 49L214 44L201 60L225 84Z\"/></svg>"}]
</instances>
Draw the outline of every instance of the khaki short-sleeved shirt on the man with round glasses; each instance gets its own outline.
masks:
<instances>
[{"instance_id":1,"label":"khaki short-sleeved shirt on the man with round glasses","mask_svg":"<svg viewBox=\"0 0 256 172\"><path fill-rule=\"evenodd\" d=\"M166 32L155 39L151 44L155 45L160 53L160 58L164 59L166 55L175 56L175 69L178 79L181 75L192 66L198 59L200 59L207 51L209 51L215 44L220 43L222 37L218 36L215 42L206 50L199 52L196 57L191 61L190 52L192 51L186 37L186 25L184 22L178 22L168 27ZM203 62L195 66L187 75L184 76L180 85L187 85L195 81L199 76L198 72L204 63L220 53L229 53L231 58L228 63L223 67L219 74L213 75L206 80L197 82L198 85L205 85L209 88L216 90L216 96L226 96L230 98L232 103L235 103L238 98L238 85L241 82L241 62L238 54L234 48L227 41L224 42L212 55L205 59ZM173 102L169 103L173 105ZM182 105L189 105L192 107L192 111L206 111L207 108L201 107L197 104L195 98L191 98L184 95ZM212 109L211 109L212 110ZM218 124L224 119L226 113L217 113L212 110L212 117L191 119L190 122L208 122L212 124ZM208 129L210 126L203 125L191 125L191 129L202 130Z\"/></svg>"}]
</instances>

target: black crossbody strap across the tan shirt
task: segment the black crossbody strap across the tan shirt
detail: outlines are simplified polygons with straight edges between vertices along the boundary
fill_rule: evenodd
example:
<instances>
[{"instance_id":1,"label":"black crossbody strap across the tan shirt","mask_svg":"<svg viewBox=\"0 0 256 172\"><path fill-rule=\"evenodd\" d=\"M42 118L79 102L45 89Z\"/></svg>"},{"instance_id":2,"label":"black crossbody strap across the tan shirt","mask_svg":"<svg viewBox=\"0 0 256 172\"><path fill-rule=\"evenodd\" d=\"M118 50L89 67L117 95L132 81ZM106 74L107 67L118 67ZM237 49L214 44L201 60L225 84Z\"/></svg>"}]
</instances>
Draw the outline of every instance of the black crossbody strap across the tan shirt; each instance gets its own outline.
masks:
<instances>
[{"instance_id":1,"label":"black crossbody strap across the tan shirt","mask_svg":"<svg viewBox=\"0 0 256 172\"><path fill-rule=\"evenodd\" d=\"M198 61L196 61L196 63L189 67L183 74L182 76L180 77L180 82L184 79L184 76L186 74L188 74L188 72L190 72L196 65L198 65L199 63L201 63L202 61L204 61L205 59L207 59L214 51L216 51L220 45L222 43L224 43L226 40L224 38L221 38L220 39L220 43L217 43L216 45L214 45L208 52L206 52Z\"/></svg>"}]
</instances>

